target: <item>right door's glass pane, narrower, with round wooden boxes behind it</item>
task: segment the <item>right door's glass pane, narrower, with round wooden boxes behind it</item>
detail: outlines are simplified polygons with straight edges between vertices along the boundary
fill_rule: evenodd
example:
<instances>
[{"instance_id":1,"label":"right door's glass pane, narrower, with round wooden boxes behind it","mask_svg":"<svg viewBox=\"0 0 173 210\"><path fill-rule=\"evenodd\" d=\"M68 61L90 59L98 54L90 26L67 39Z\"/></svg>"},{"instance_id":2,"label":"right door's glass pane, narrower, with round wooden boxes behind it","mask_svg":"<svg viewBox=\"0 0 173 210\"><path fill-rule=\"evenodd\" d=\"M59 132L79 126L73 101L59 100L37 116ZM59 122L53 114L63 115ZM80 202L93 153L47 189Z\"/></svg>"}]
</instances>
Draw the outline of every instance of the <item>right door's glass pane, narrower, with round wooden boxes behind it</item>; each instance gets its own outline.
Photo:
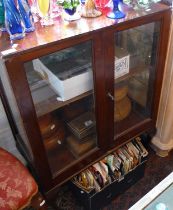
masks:
<instances>
[{"instance_id":1,"label":"right door's glass pane, narrower, with round wooden boxes behind it","mask_svg":"<svg viewBox=\"0 0 173 210\"><path fill-rule=\"evenodd\" d=\"M153 22L115 34L115 139L151 118L159 30Z\"/></svg>"}]
</instances>

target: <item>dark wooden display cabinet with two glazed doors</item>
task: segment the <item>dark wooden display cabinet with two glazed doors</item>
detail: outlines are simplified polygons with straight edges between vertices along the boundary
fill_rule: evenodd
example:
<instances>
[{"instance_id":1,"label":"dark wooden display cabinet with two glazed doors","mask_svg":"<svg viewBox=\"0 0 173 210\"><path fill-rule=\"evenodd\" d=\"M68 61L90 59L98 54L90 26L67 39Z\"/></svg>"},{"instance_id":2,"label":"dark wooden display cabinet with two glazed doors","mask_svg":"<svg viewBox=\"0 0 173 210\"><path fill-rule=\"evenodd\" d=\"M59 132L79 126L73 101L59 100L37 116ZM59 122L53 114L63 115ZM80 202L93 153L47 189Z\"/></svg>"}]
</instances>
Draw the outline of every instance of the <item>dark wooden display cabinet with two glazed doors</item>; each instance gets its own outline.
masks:
<instances>
[{"instance_id":1,"label":"dark wooden display cabinet with two glazed doors","mask_svg":"<svg viewBox=\"0 0 173 210\"><path fill-rule=\"evenodd\" d=\"M1 79L16 135L23 136L17 139L48 198L119 146L156 130L171 10L153 4L124 11L121 20L102 15L67 24L58 17L13 47L1 37Z\"/></svg>"}]
</instances>

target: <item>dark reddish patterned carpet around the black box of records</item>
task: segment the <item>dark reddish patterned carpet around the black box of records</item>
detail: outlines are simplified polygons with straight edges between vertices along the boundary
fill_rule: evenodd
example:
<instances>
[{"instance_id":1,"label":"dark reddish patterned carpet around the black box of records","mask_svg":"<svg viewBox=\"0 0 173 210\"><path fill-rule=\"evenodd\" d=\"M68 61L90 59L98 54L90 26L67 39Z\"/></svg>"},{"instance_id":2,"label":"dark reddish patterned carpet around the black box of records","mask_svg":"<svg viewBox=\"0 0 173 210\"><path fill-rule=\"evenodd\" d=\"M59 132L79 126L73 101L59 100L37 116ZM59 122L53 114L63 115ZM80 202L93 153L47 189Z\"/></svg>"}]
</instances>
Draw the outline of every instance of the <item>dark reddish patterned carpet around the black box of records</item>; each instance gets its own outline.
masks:
<instances>
[{"instance_id":1,"label":"dark reddish patterned carpet around the black box of records","mask_svg":"<svg viewBox=\"0 0 173 210\"><path fill-rule=\"evenodd\" d=\"M148 150L149 158L144 177L101 210L128 210L129 207L173 171L173 151L168 157L161 158L156 156L151 149ZM79 202L66 185L58 193L56 203L60 210L84 209L79 205ZM50 207L49 210L52 210L52 208Z\"/></svg>"}]
</instances>

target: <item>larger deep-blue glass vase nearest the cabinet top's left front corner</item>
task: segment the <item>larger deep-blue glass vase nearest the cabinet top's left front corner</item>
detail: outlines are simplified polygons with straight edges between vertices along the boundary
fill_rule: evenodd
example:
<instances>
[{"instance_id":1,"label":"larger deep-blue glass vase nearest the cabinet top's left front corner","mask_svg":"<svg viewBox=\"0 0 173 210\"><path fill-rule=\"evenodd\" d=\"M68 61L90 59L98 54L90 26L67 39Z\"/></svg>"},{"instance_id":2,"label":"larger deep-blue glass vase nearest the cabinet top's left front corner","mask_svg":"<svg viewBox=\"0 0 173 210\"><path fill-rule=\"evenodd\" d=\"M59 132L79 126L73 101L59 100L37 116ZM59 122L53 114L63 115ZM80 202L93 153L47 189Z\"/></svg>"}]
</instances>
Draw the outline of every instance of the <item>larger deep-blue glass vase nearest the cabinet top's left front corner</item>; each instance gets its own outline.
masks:
<instances>
[{"instance_id":1,"label":"larger deep-blue glass vase nearest the cabinet top's left front corner","mask_svg":"<svg viewBox=\"0 0 173 210\"><path fill-rule=\"evenodd\" d=\"M5 27L10 35L10 40L22 39L25 36L25 28L19 11L13 0L3 0L5 9Z\"/></svg>"}]
</instances>

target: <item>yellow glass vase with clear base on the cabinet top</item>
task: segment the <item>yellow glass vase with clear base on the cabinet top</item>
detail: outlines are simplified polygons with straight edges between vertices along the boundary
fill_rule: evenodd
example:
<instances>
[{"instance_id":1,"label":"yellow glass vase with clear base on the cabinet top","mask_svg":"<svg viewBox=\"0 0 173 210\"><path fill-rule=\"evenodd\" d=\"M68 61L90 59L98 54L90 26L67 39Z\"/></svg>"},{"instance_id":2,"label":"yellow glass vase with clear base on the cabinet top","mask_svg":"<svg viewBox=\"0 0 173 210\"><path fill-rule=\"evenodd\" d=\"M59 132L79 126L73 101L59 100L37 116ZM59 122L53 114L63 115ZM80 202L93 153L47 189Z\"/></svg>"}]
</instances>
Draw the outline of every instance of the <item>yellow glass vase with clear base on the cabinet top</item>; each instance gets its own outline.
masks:
<instances>
[{"instance_id":1,"label":"yellow glass vase with clear base on the cabinet top","mask_svg":"<svg viewBox=\"0 0 173 210\"><path fill-rule=\"evenodd\" d=\"M51 0L37 0L37 6L41 17L41 25L53 25L53 19L51 18Z\"/></svg>"}]
</instances>

